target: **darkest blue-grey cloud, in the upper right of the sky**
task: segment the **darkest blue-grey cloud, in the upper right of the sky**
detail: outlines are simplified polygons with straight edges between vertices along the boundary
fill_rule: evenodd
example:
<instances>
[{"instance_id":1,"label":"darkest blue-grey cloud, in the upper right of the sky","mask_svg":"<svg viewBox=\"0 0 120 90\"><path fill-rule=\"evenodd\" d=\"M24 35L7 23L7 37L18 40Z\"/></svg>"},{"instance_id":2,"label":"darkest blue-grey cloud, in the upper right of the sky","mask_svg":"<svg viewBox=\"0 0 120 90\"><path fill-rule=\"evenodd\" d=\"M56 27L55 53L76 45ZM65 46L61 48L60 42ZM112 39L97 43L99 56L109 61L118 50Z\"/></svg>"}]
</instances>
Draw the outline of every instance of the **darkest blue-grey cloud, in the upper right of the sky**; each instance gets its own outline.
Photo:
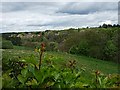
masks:
<instances>
[{"instance_id":1,"label":"darkest blue-grey cloud, in the upper right of the sky","mask_svg":"<svg viewBox=\"0 0 120 90\"><path fill-rule=\"evenodd\" d=\"M57 13L89 14L100 11L117 10L115 2L74 2L59 9Z\"/></svg>"}]
</instances>

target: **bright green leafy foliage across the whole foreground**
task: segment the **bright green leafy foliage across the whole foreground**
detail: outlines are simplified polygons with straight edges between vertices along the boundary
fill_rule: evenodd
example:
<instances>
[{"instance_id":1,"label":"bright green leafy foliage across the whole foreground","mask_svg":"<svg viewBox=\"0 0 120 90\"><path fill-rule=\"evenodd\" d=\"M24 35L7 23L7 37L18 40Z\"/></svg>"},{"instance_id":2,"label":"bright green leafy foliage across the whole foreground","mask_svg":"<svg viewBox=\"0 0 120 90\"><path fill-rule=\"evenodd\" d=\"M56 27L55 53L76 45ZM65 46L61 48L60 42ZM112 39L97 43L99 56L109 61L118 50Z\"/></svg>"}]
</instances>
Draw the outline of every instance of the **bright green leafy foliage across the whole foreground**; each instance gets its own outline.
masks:
<instances>
[{"instance_id":1,"label":"bright green leafy foliage across the whole foreground","mask_svg":"<svg viewBox=\"0 0 120 90\"><path fill-rule=\"evenodd\" d=\"M44 57L41 69L37 68L38 60L34 55L23 57L19 63L13 60L16 67L3 73L4 88L117 88L119 75L96 74L94 71L88 72L82 66L78 68L77 62L66 62L67 66L57 66L54 56ZM24 63L24 64L23 64ZM73 63L74 68L72 68ZM22 64L22 67L21 67ZM20 68L21 67L21 68ZM18 68L18 69L16 69ZM92 74L93 73L93 74ZM86 76L89 78L86 78ZM91 78L90 78L91 77ZM97 80L97 82L96 82Z\"/></svg>"}]
</instances>

